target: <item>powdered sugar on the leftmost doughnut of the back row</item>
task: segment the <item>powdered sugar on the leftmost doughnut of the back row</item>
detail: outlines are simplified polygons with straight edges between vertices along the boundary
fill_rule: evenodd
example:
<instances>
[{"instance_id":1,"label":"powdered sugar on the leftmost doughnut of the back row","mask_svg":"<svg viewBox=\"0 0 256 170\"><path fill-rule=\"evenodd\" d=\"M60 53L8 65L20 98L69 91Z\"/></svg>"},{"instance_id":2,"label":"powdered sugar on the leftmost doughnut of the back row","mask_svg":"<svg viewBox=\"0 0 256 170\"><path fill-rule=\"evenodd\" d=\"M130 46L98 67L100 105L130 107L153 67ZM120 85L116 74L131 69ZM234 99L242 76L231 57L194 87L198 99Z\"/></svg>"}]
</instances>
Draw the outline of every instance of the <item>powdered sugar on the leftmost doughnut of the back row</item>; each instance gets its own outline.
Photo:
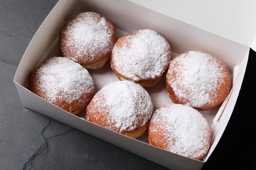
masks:
<instances>
[{"instance_id":1,"label":"powdered sugar on the leftmost doughnut of the back row","mask_svg":"<svg viewBox=\"0 0 256 170\"><path fill-rule=\"evenodd\" d=\"M95 12L78 14L63 34L66 34L66 46L62 50L75 52L72 56L79 61L83 56L88 60L95 59L98 54L106 54L112 50L112 29L106 18Z\"/></svg>"}]
</instances>

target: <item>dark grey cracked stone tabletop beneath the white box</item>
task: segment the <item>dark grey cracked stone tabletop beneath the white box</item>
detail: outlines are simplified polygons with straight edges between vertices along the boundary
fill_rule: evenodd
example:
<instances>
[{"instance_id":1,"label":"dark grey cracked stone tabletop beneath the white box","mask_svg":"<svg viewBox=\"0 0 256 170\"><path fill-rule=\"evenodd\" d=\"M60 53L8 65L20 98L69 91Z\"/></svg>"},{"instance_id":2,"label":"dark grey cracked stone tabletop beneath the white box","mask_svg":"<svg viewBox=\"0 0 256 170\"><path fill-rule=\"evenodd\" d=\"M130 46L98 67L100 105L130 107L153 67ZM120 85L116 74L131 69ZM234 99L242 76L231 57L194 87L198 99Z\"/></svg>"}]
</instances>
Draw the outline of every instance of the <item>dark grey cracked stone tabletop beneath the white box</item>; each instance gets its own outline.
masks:
<instances>
[{"instance_id":1,"label":"dark grey cracked stone tabletop beneath the white box","mask_svg":"<svg viewBox=\"0 0 256 170\"><path fill-rule=\"evenodd\" d=\"M35 31L56 2L57 0L0 0L0 169L165 169L152 161L23 107L13 77ZM255 58L254 54L251 57L254 64ZM249 89L249 85L246 88ZM247 94L244 92L244 95ZM255 90L249 95L255 97ZM247 100L248 105L254 104ZM243 108L242 101L238 104L236 110ZM248 105L245 107L250 108ZM250 114L250 118L243 119L247 124L246 129L255 129L255 111L253 112L254 115ZM225 131L218 144L220 146L203 169L217 168L220 163L228 166L247 163L248 167L253 167L255 156L247 154L255 152L255 143L250 136L245 135L242 137L244 141L249 141L247 146L240 145L244 144L242 140L236 141L239 135L245 134L238 133L243 127L241 122L236 124L239 118L236 114L232 116L231 125L227 127L228 131ZM250 134L255 134L255 131ZM232 147L232 144L236 146ZM251 152L247 152L249 148ZM221 159L220 156L225 158ZM227 156L233 161L226 160Z\"/></svg>"}]
</instances>

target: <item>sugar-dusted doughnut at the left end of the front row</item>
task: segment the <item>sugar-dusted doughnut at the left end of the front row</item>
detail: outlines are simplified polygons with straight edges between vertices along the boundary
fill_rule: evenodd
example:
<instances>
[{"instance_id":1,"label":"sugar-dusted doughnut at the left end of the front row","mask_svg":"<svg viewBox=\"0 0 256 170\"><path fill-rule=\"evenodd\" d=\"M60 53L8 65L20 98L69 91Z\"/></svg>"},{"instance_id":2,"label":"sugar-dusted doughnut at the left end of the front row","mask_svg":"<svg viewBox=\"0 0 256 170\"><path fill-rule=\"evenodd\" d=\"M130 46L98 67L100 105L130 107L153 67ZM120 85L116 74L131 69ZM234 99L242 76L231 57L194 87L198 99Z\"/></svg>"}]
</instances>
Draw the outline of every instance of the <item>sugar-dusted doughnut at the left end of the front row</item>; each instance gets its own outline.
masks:
<instances>
[{"instance_id":1,"label":"sugar-dusted doughnut at the left end of the front row","mask_svg":"<svg viewBox=\"0 0 256 170\"><path fill-rule=\"evenodd\" d=\"M30 91L72 114L86 109L95 95L95 84L87 69L74 59L55 56L32 70Z\"/></svg>"}]
</instances>

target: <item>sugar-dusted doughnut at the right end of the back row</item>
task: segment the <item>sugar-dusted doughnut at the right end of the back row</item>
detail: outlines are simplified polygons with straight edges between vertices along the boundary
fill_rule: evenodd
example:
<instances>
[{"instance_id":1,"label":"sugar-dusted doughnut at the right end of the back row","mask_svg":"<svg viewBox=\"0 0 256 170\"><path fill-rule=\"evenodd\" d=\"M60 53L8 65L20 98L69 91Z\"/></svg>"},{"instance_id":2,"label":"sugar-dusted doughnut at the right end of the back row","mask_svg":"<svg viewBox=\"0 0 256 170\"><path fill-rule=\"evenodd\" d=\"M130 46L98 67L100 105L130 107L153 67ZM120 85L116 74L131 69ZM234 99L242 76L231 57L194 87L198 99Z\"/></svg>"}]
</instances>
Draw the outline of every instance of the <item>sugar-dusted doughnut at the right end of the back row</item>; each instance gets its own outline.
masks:
<instances>
[{"instance_id":1,"label":"sugar-dusted doughnut at the right end of the back row","mask_svg":"<svg viewBox=\"0 0 256 170\"><path fill-rule=\"evenodd\" d=\"M228 67L198 51L185 52L169 64L166 88L173 103L209 110L223 103L231 88Z\"/></svg>"}]
</instances>

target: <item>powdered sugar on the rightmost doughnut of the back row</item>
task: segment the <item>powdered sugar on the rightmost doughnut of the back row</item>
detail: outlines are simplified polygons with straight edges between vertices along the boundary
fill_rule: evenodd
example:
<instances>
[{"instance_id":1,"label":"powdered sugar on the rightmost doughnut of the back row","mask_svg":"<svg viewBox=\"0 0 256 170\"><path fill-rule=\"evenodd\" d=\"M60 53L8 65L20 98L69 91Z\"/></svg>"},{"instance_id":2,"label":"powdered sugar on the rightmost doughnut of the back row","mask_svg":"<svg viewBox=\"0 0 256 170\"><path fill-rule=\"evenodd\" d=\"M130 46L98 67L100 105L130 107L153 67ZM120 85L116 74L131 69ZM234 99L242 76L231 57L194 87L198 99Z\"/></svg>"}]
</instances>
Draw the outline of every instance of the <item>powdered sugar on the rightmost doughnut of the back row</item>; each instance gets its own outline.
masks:
<instances>
[{"instance_id":1,"label":"powdered sugar on the rightmost doughnut of the back row","mask_svg":"<svg viewBox=\"0 0 256 170\"><path fill-rule=\"evenodd\" d=\"M169 65L167 82L185 105L202 107L214 101L218 83L223 81L224 65L209 54L190 51L173 59Z\"/></svg>"}]
</instances>

